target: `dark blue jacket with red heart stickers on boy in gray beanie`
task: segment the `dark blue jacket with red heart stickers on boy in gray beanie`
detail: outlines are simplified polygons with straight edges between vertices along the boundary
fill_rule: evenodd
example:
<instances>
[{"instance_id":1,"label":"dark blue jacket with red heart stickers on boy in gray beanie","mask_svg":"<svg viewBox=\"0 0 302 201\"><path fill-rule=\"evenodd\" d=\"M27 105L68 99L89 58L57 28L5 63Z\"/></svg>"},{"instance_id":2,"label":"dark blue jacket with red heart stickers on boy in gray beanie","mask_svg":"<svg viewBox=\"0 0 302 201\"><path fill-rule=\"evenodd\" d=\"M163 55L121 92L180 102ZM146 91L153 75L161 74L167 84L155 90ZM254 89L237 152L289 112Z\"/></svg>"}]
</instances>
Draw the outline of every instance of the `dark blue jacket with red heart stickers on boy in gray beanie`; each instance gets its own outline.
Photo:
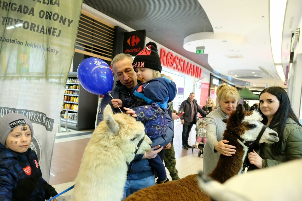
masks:
<instances>
[{"instance_id":1,"label":"dark blue jacket with red heart stickers on boy in gray beanie","mask_svg":"<svg viewBox=\"0 0 302 201\"><path fill-rule=\"evenodd\" d=\"M18 153L0 144L1 201L44 201L56 194L42 178L37 155L31 148Z\"/></svg>"}]
</instances>

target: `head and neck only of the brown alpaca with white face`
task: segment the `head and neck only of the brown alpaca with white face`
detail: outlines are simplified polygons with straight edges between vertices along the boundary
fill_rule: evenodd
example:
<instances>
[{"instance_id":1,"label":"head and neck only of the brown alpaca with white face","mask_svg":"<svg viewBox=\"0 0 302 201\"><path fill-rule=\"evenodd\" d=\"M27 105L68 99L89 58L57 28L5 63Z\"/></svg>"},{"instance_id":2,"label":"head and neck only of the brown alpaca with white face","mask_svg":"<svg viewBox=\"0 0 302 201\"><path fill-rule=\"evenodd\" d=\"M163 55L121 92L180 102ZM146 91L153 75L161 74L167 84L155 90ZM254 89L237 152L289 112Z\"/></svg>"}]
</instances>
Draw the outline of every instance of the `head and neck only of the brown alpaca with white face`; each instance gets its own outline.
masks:
<instances>
[{"instance_id":1,"label":"head and neck only of the brown alpaca with white face","mask_svg":"<svg viewBox=\"0 0 302 201\"><path fill-rule=\"evenodd\" d=\"M236 111L233 111L228 119L225 120L226 130L223 133L223 139L228 140L230 145L236 147L236 154L232 156L225 156L220 154L216 168L209 174L209 176L224 183L229 178L241 173L243 161L246 157L248 147L243 143L250 140L255 140L260 133L263 124L262 117L258 111L246 112L241 105L238 105ZM241 137L244 141L239 140ZM274 143L278 142L278 134L266 128L259 143Z\"/></svg>"}]
</instances>

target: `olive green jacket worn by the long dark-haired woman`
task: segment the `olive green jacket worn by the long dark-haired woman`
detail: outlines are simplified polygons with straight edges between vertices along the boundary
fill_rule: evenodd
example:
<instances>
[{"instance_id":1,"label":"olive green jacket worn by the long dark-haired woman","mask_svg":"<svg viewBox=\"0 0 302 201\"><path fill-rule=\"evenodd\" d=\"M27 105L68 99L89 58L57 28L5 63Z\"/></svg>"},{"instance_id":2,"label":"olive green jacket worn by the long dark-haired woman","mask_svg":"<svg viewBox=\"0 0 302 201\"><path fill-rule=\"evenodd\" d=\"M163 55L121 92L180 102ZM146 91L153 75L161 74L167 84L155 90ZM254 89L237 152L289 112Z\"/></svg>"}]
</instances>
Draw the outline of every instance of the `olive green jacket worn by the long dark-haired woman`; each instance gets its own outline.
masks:
<instances>
[{"instance_id":1,"label":"olive green jacket worn by the long dark-haired woman","mask_svg":"<svg viewBox=\"0 0 302 201\"><path fill-rule=\"evenodd\" d=\"M273 128L277 131L277 127ZM272 144L263 143L260 151L263 168L278 165L294 159L302 158L302 127L292 118L288 118L285 124L281 145L281 155L274 154Z\"/></svg>"}]
</instances>

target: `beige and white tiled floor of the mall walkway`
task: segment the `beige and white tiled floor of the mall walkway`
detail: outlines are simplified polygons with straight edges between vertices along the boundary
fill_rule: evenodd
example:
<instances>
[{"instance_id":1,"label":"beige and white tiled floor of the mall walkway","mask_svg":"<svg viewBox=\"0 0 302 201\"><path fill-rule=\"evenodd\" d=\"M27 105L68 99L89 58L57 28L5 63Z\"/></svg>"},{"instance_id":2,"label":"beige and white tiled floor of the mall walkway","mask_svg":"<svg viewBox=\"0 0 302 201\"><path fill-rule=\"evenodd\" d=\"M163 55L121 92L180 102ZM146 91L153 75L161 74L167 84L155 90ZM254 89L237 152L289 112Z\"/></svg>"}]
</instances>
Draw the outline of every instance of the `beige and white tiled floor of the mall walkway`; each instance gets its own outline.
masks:
<instances>
[{"instance_id":1,"label":"beige and white tiled floor of the mall walkway","mask_svg":"<svg viewBox=\"0 0 302 201\"><path fill-rule=\"evenodd\" d=\"M50 168L49 183L56 188L57 192L62 192L74 184L74 180L79 171L83 152L93 130L74 131L69 133L57 133L53 158ZM188 143L195 143L195 126L192 127ZM66 136L65 136L66 135ZM68 135L72 136L69 137ZM75 136L76 135L76 136ZM62 137L63 136L63 137ZM61 138L62 137L62 138ZM176 158L176 169L180 178L189 174L196 174L203 169L203 158L198 157L198 149L182 149L182 124L175 123L174 149ZM171 180L169 171L167 176ZM65 195L72 193L72 190Z\"/></svg>"}]
</instances>

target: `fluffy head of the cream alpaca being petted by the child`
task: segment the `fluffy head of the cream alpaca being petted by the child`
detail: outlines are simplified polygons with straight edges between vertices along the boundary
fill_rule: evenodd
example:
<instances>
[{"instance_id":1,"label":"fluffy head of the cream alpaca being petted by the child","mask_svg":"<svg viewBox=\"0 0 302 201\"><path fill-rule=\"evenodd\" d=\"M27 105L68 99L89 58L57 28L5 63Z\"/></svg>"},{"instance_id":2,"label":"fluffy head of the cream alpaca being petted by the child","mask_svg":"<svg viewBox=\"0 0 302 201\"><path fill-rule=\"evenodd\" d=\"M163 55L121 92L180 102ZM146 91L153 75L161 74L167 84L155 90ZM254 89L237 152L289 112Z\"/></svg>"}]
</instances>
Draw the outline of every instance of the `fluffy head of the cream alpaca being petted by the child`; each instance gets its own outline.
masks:
<instances>
[{"instance_id":1,"label":"fluffy head of the cream alpaca being petted by the child","mask_svg":"<svg viewBox=\"0 0 302 201\"><path fill-rule=\"evenodd\" d=\"M118 157L125 159L127 163L134 159L136 150L137 154L143 154L148 152L152 145L140 121L124 113L113 114L110 105L104 109L104 121L98 125L95 132L105 138L108 149L116 150Z\"/></svg>"}]
</instances>

